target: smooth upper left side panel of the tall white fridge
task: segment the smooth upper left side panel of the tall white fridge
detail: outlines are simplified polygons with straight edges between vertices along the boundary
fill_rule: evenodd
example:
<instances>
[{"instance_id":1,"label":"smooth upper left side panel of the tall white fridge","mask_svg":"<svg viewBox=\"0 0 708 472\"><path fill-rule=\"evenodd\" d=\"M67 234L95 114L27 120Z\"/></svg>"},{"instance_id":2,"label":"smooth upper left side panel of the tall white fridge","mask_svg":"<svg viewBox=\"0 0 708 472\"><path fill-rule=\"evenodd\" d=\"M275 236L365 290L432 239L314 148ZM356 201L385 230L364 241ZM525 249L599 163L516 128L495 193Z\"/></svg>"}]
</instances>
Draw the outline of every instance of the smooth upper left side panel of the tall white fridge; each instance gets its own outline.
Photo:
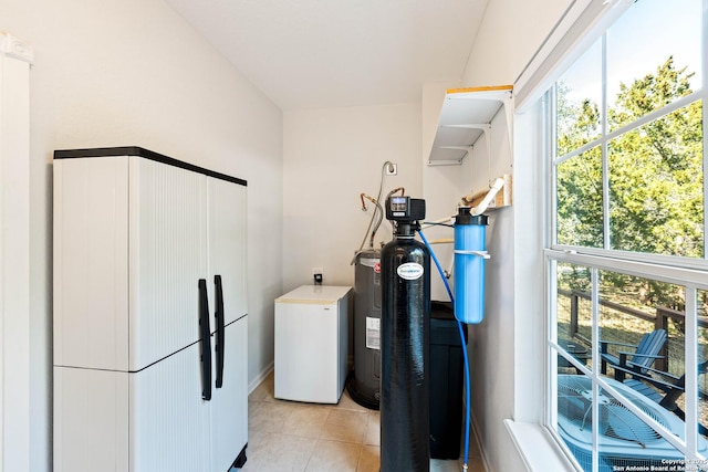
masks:
<instances>
[{"instance_id":1,"label":"smooth upper left side panel of the tall white fridge","mask_svg":"<svg viewBox=\"0 0 708 472\"><path fill-rule=\"evenodd\" d=\"M54 160L54 365L128 367L128 158Z\"/></svg>"}]
</instances>

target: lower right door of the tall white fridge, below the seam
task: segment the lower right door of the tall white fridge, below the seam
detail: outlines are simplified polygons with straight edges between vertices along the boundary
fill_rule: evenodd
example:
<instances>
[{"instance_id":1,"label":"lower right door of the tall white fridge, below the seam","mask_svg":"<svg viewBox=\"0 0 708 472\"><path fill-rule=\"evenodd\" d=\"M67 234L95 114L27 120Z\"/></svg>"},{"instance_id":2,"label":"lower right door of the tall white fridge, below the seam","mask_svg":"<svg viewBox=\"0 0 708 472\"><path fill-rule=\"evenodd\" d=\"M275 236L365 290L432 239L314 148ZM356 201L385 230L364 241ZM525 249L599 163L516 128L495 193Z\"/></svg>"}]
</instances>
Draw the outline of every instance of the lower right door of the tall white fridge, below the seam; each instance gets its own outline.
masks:
<instances>
[{"instance_id":1,"label":"lower right door of the tall white fridge, below the seam","mask_svg":"<svg viewBox=\"0 0 708 472\"><path fill-rule=\"evenodd\" d=\"M248 442L247 336L248 316L226 326L223 384L211 399L212 471L228 471Z\"/></svg>"}]
</instances>

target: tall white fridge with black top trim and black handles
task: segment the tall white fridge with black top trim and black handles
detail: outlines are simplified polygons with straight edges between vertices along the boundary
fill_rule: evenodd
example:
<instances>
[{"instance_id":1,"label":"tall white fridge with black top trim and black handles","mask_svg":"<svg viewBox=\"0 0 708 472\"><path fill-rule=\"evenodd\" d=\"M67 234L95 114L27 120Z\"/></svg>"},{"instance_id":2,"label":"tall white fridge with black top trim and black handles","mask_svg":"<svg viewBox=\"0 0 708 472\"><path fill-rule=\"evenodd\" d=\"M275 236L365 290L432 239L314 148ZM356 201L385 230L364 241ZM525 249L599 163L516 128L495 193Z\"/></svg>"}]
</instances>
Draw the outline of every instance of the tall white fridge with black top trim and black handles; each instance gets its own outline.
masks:
<instances>
[{"instance_id":1,"label":"tall white fridge with black top trim and black handles","mask_svg":"<svg viewBox=\"0 0 708 472\"><path fill-rule=\"evenodd\" d=\"M246 181L54 154L54 471L228 471L248 441Z\"/></svg>"}]
</instances>

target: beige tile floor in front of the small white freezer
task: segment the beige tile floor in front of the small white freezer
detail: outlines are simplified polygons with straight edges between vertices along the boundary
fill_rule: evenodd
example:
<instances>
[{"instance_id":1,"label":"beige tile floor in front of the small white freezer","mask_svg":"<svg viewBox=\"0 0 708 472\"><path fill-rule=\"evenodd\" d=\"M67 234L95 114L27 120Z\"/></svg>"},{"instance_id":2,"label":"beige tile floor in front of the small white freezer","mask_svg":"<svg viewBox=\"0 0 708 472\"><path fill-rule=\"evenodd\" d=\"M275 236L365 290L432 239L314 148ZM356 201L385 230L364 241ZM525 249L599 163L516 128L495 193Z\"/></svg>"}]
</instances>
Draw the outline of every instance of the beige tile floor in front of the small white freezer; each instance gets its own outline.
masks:
<instances>
[{"instance_id":1,"label":"beige tile floor in front of the small white freezer","mask_svg":"<svg viewBox=\"0 0 708 472\"><path fill-rule=\"evenodd\" d=\"M337 405L273 398L271 374L249 396L248 461L242 471L378 472L378 411L355 403L346 390ZM485 472L477 445L469 471ZM430 471L462 470L462 460L431 460Z\"/></svg>"}]
</instances>

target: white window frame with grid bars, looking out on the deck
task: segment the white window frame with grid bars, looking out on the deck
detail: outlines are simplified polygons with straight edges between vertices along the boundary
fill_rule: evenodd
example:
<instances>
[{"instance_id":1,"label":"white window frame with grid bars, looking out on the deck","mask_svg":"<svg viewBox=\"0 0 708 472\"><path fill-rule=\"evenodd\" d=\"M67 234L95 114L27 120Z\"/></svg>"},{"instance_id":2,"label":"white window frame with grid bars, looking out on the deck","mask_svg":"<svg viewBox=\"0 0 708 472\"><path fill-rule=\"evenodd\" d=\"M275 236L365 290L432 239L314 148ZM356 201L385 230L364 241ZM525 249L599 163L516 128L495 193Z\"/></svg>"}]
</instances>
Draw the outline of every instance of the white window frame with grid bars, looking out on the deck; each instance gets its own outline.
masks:
<instances>
[{"instance_id":1,"label":"white window frame with grid bars, looking out on the deck","mask_svg":"<svg viewBox=\"0 0 708 472\"><path fill-rule=\"evenodd\" d=\"M605 2L608 3L608 2ZM623 2L614 2L614 3L623 3ZM702 0L702 50L708 51L708 0ZM667 282L671 284L678 284L686 287L686 334L685 334L685 343L686 343L686 359L685 359L685 371L686 375L686 436L684 440L676 439L674 434L666 430L660 424L653 421L650 418L646 417L638 408L636 408L631 401L624 399L625 406L632 410L635 415L639 416L643 420L654 427L671 445L686 454L689 459L706 459L705 457L697 453L698 445L698 430L697 428L688 428L688 424L697 424L698 423L698 375L697 373L697 364L698 364L698 306L697 306L697 293L699 290L708 289L708 175L706 170L708 169L708 146L707 144L707 135L708 135L708 115L706 114L706 104L708 103L708 88L706 87L706 83L708 82L708 60L704 59L701 67L702 67L702 81L700 88L693 92L689 95L683 96L669 105L666 105L659 109L655 109L652 113L643 116L642 118L622 126L621 128L614 129L610 132L607 129L607 99L606 99L606 30L610 28L614 20L616 20L622 13L624 13L629 4L624 2L623 8L616 8L614 10L601 10L601 13L597 13L597 17L591 21L593 24L592 28L583 30L582 33L577 31L574 32L576 36L574 41L569 41L568 39L563 39L562 42L566 44L574 43L572 48L568 48L570 53L565 53L565 57L563 60L555 60L553 70L554 76L558 77L561 73L560 70L565 70L568 66L572 65L574 61L581 56L584 51L595 41L602 41L602 94L603 99L601 104L601 116L602 116L602 134L598 138L593 139L590 143L586 143L582 147L574 149L573 151L558 157L556 156L556 120L555 120L555 81L549 81L548 76L545 80L546 88L544 93L538 94L535 96L533 93L528 94L528 96L534 96L534 103L540 99L542 103L542 113L544 124L539 126L539 134L542 135L542 149L540 153L540 164L543 167L544 175L548 176L548 181L543 183L545 187L544 199L546 201L545 206L545 217L546 221L550 223L546 225L544 240L546 241L545 248L543 248L543 260L544 260L544 270L545 270L545 281L544 281L544 293L545 293L545 323L546 323L546 338L545 338L545 366L546 366L546 385L545 385L545 406L544 406L544 427L550 431L550 433L554 437L555 441L561 445L561 448L565 451L569 458L573 458L573 454L570 453L563 440L560 438L558 432L555 431L555 426L558 424L556 418L556 373L558 373L558 353L565 353L561 346L555 342L556 337L556 296L558 296L558 287L556 287L556 264L560 262L577 264L582 266L590 268L592 271L592 366L593 370L590 370L585 366L579 366L582 370L582 374L587 376L593 385L593 405L597 401L597 392L598 388L608 390L614 396L623 399L621 392L616 391L608 382L604 380L604 376L600 374L600 370L594 366L600 365L600 323L598 323L598 301L600 301L600 290L598 290L598 272L600 271L612 271L622 274L636 275L641 277L652 279L660 282ZM573 32L570 32L569 36L573 36ZM550 54L552 57L553 54ZM705 53L704 53L705 56ZM541 67L543 69L543 67ZM533 83L533 80L530 81ZM552 82L552 86L548 88L549 82ZM538 87L537 87L538 88ZM607 157L607 144L621 136L625 133L628 133L633 129L636 129L641 126L644 126L647 123L650 123L657 118L668 115L669 113L679 109L681 107L688 106L690 103L700 101L702 102L702 111L704 111L704 119L702 119L702 162L704 162L704 259L693 259L693 258L684 258L684 256L675 256L675 255L664 255L664 254L649 254L649 253L635 253L629 251L621 251L610 249L610 221L607 218L608 214L608 157ZM556 169L558 165L571 159L575 156L579 156L589 149L593 149L595 147L601 148L602 153L602 168L603 168L603 248L586 248L586 247L575 247L575 245L566 245L558 243L558 206L556 206L556 197L558 197L558 180L556 180ZM572 361L571 356L565 353L566 358ZM690 374L693 373L693 374ZM593 408L593 424L597 424L597 408ZM597 451L597 432L593 431L593 462L597 463L598 451Z\"/></svg>"}]
</instances>

